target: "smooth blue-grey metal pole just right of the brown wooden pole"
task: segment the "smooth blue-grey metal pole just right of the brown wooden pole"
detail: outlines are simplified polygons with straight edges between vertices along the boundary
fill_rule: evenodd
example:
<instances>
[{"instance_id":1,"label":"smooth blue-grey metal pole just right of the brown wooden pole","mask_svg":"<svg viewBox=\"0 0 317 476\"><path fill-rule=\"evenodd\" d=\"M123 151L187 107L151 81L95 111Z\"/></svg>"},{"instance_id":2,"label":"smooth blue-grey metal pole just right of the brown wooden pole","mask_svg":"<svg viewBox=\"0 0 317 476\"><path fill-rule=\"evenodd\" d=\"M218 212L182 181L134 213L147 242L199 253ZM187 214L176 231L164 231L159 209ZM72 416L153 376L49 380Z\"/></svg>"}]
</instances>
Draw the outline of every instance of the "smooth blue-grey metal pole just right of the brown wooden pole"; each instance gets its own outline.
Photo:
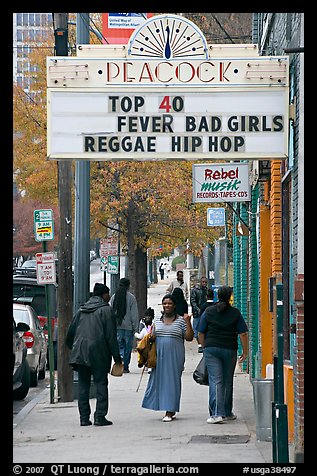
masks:
<instances>
[{"instance_id":1,"label":"smooth blue-grey metal pole just right of the brown wooden pole","mask_svg":"<svg viewBox=\"0 0 317 476\"><path fill-rule=\"evenodd\" d=\"M77 13L76 43L89 43L89 13ZM76 160L75 170L75 240L74 308L75 313L89 298L90 288L90 162Z\"/></svg>"}]
</instances>

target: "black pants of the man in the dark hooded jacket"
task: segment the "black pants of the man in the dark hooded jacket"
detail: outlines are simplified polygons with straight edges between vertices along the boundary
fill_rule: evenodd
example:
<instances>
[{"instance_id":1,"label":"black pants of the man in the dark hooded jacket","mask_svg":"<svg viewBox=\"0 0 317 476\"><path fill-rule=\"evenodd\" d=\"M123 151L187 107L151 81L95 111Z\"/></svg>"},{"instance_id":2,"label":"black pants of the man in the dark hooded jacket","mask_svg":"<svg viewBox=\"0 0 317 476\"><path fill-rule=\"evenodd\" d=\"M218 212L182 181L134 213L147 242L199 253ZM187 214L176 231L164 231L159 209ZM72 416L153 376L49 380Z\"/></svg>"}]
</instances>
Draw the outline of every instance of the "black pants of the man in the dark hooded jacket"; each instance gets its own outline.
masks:
<instances>
[{"instance_id":1,"label":"black pants of the man in the dark hooded jacket","mask_svg":"<svg viewBox=\"0 0 317 476\"><path fill-rule=\"evenodd\" d=\"M90 417L89 391L93 375L96 388L96 410L94 419L105 417L108 413L108 374L105 370L78 365L78 410L81 420Z\"/></svg>"}]
</instances>

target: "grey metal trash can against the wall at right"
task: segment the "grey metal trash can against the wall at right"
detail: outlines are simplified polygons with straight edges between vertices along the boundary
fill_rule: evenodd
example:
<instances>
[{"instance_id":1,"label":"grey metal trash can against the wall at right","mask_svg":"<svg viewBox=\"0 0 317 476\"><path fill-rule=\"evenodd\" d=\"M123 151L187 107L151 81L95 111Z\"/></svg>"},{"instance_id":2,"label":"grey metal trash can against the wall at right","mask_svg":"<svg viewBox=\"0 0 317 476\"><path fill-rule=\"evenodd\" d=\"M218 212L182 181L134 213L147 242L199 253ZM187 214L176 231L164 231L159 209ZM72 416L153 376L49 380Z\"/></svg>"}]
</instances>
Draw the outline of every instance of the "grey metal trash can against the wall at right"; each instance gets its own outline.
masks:
<instances>
[{"instance_id":1,"label":"grey metal trash can against the wall at right","mask_svg":"<svg viewBox=\"0 0 317 476\"><path fill-rule=\"evenodd\" d=\"M256 439L259 441L272 441L273 383L273 379L252 379Z\"/></svg>"}]
</instances>

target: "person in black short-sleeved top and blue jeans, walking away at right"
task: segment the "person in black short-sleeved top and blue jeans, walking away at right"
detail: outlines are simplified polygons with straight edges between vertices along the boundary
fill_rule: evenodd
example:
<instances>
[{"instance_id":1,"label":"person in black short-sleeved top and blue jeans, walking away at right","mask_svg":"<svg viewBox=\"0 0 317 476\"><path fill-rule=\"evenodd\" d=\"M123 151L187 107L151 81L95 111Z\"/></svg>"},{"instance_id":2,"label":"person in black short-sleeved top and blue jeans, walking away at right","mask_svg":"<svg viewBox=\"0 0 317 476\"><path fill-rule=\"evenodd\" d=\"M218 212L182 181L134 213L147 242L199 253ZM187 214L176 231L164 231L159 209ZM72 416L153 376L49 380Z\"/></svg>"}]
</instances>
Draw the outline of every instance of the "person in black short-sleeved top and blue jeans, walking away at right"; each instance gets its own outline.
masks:
<instances>
[{"instance_id":1,"label":"person in black short-sleeved top and blue jeans, walking away at right","mask_svg":"<svg viewBox=\"0 0 317 476\"><path fill-rule=\"evenodd\" d=\"M202 314L198 339L203 347L209 380L209 418L207 423L235 420L233 376L237 363L238 335L242 345L239 364L248 355L248 327L238 308L231 306L232 289L221 286L218 302Z\"/></svg>"}]
</instances>

